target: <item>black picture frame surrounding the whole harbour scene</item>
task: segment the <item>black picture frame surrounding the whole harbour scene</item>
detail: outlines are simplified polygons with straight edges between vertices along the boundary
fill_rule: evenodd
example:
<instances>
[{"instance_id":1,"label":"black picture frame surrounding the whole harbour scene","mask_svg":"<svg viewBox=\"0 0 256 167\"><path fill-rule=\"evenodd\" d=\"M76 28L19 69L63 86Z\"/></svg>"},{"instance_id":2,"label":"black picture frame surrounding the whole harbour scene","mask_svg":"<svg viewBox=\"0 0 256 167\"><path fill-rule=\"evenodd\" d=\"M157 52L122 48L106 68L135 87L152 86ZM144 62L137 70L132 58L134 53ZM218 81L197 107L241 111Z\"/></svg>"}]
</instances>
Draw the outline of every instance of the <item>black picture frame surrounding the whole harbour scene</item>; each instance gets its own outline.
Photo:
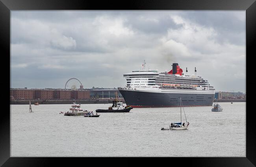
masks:
<instances>
[{"instance_id":1,"label":"black picture frame surrounding the whole harbour scene","mask_svg":"<svg viewBox=\"0 0 256 167\"><path fill-rule=\"evenodd\" d=\"M254 56L256 43L256 2L255 0L129 0L129 1L93 1L93 0L0 0L0 45L2 58L0 85L2 107L7 104L9 98L8 86L10 86L10 12L11 10L246 10L246 72L254 75ZM9 57L8 57L9 56ZM8 61L9 60L9 61ZM8 62L10 62L8 64ZM6 72L9 69L9 75ZM237 69L239 70L239 69ZM4 75L4 76L3 76ZM9 80L8 80L9 79ZM167 158L159 160L147 158L147 163L155 162L161 165L164 162L182 166L202 167L253 167L256 165L256 133L253 117L253 95L255 95L256 79L246 77L247 94L246 109L246 157L195 157L195 158ZM251 106L251 107L250 107ZM75 163L85 164L89 158L51 158L51 157L10 157L10 113L1 111L0 121L0 165L6 167L16 166L51 166L53 162L61 165ZM102 163L118 164L116 160L105 158ZM166 159L166 158L165 158ZM96 160L97 163L100 160ZM121 165L135 165L135 161L123 160ZM176 162L176 163L175 163ZM177 164L176 164L177 165Z\"/></svg>"}]
</instances>

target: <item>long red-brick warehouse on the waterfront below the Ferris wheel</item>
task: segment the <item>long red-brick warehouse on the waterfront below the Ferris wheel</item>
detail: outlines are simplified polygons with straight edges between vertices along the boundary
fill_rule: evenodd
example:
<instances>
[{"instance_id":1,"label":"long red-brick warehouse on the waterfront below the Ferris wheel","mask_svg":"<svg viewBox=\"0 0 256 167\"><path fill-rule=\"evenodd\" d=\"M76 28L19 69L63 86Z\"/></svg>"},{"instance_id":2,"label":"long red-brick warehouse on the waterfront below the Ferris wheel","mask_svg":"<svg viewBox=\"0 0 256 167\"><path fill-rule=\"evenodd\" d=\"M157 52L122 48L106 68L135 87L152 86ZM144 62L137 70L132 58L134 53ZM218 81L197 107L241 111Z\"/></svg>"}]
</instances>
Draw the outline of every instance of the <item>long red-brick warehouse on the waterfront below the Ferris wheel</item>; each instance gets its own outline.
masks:
<instances>
[{"instance_id":1,"label":"long red-brick warehouse on the waterfront below the Ferris wheel","mask_svg":"<svg viewBox=\"0 0 256 167\"><path fill-rule=\"evenodd\" d=\"M31 100L31 99L89 99L89 90L63 90L63 89L21 89L11 88L10 99L11 100Z\"/></svg>"}]
</instances>

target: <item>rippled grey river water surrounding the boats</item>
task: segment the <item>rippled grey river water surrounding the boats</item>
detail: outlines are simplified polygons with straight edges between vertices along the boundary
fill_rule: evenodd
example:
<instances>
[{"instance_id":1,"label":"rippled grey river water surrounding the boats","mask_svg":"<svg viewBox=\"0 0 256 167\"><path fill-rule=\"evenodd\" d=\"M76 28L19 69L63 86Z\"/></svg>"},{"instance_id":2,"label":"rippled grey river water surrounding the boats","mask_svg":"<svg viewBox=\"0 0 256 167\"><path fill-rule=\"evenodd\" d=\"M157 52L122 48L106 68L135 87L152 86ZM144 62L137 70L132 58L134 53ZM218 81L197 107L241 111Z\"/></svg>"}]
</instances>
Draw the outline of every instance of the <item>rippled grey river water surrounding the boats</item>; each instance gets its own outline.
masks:
<instances>
[{"instance_id":1,"label":"rippled grey river water surrounding the boats","mask_svg":"<svg viewBox=\"0 0 256 167\"><path fill-rule=\"evenodd\" d=\"M184 107L188 130L161 130L179 107L134 108L100 117L64 116L70 105L10 105L11 156L246 156L245 102ZM111 104L82 104L106 109ZM182 110L182 122L185 121Z\"/></svg>"}]
</instances>

